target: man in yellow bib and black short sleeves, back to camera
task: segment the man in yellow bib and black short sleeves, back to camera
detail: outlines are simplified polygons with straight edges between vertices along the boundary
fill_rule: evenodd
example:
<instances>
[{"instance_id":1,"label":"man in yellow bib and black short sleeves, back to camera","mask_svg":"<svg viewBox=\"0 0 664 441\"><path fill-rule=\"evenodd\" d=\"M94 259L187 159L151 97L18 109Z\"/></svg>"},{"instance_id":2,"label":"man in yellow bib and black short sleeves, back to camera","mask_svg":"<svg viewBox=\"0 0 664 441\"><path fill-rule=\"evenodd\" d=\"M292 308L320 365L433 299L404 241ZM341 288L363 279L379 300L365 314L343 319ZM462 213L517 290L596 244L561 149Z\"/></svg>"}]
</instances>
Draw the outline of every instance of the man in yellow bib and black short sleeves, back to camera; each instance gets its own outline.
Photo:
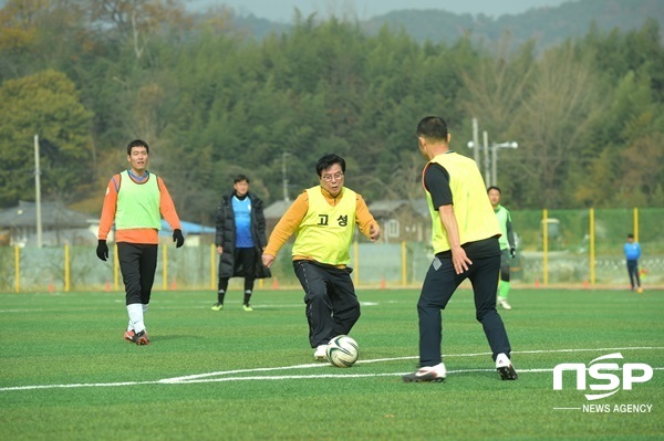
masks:
<instances>
[{"instance_id":1,"label":"man in yellow bib and black short sleeves, back to camera","mask_svg":"<svg viewBox=\"0 0 664 441\"><path fill-rule=\"evenodd\" d=\"M443 381L442 309L466 279L473 284L475 317L484 328L496 369L504 380L516 380L511 347L496 311L500 271L500 227L486 195L477 164L449 149L447 124L427 116L417 125L419 151L428 160L422 172L432 216L434 261L426 273L417 315L419 317L419 366L403 377L412 381Z\"/></svg>"}]
</instances>

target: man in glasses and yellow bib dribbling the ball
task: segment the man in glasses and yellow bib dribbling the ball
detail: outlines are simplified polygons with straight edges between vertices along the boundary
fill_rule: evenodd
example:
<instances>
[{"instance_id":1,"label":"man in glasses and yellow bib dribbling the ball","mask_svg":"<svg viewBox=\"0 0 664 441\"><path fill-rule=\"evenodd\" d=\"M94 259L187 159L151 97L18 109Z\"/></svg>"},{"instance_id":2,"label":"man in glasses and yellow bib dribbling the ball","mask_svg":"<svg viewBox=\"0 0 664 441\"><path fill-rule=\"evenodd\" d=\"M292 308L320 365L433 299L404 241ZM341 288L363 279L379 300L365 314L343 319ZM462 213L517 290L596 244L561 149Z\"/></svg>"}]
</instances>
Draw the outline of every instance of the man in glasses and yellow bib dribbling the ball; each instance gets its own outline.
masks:
<instances>
[{"instance_id":1,"label":"man in glasses and yellow bib dribbling the ball","mask_svg":"<svg viewBox=\"0 0 664 441\"><path fill-rule=\"evenodd\" d=\"M297 233L292 250L295 275L304 290L309 343L314 359L325 360L325 346L349 334L360 318L351 280L351 244L355 224L373 242L381 229L359 193L345 188L345 160L325 155L315 165L320 186L304 190L274 227L262 261L267 267Z\"/></svg>"}]
</instances>

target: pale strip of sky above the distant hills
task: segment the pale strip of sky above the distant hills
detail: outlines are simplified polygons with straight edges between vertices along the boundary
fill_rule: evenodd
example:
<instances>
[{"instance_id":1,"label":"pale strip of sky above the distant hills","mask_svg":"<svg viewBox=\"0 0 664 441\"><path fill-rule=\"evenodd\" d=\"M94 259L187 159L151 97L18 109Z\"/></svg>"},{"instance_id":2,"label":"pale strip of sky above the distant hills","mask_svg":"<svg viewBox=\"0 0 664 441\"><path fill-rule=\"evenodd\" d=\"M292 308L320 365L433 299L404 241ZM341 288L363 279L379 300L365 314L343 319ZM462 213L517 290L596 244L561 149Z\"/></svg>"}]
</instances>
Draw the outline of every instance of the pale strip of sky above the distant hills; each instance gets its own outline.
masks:
<instances>
[{"instance_id":1,"label":"pale strip of sky above the distant hills","mask_svg":"<svg viewBox=\"0 0 664 441\"><path fill-rule=\"evenodd\" d=\"M558 7L578 0L189 0L189 8L226 4L241 15L252 13L271 21L290 23L294 8L304 15L317 12L323 17L356 17L367 20L390 11L404 9L439 9L454 13L484 13L490 17L518 14L532 8Z\"/></svg>"}]
</instances>

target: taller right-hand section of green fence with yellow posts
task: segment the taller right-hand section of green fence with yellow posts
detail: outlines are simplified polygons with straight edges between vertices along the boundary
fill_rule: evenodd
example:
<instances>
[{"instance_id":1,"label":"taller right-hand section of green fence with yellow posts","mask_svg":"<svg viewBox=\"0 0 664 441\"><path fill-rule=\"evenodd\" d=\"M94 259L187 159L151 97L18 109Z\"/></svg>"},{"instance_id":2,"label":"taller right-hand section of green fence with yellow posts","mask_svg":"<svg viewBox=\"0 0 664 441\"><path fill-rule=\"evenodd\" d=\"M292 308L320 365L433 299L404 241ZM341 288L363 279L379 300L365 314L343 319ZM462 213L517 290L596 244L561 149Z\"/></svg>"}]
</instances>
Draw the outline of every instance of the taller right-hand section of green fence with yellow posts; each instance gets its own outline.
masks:
<instances>
[{"instance_id":1,"label":"taller right-hand section of green fence with yellow posts","mask_svg":"<svg viewBox=\"0 0 664 441\"><path fill-rule=\"evenodd\" d=\"M643 282L664 282L664 209L512 211L519 239L517 277L532 284L629 284L623 245L641 243Z\"/></svg>"}]
</instances>

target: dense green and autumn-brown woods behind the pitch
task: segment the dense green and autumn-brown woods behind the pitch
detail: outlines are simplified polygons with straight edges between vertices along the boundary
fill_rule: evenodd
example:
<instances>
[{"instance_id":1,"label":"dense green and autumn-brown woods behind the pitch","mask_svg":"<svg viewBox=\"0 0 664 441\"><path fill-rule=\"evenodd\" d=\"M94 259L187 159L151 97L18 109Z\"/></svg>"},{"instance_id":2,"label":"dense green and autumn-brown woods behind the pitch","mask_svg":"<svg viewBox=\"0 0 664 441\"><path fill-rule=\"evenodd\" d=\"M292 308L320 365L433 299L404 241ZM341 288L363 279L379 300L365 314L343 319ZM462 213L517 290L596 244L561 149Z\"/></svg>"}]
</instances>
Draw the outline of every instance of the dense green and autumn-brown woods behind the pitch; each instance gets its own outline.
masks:
<instances>
[{"instance_id":1,"label":"dense green and autumn-brown woods behind the pitch","mask_svg":"<svg viewBox=\"0 0 664 441\"><path fill-rule=\"evenodd\" d=\"M287 179L293 199L331 151L370 201L419 198L415 125L429 114L468 156L473 117L489 144L518 141L498 161L510 208L664 206L654 20L538 54L313 17L258 41L228 11L177 0L9 0L0 23L1 207L34 198L35 134L42 195L91 214L134 138L187 220L209 222L238 172L268 203Z\"/></svg>"}]
</instances>

